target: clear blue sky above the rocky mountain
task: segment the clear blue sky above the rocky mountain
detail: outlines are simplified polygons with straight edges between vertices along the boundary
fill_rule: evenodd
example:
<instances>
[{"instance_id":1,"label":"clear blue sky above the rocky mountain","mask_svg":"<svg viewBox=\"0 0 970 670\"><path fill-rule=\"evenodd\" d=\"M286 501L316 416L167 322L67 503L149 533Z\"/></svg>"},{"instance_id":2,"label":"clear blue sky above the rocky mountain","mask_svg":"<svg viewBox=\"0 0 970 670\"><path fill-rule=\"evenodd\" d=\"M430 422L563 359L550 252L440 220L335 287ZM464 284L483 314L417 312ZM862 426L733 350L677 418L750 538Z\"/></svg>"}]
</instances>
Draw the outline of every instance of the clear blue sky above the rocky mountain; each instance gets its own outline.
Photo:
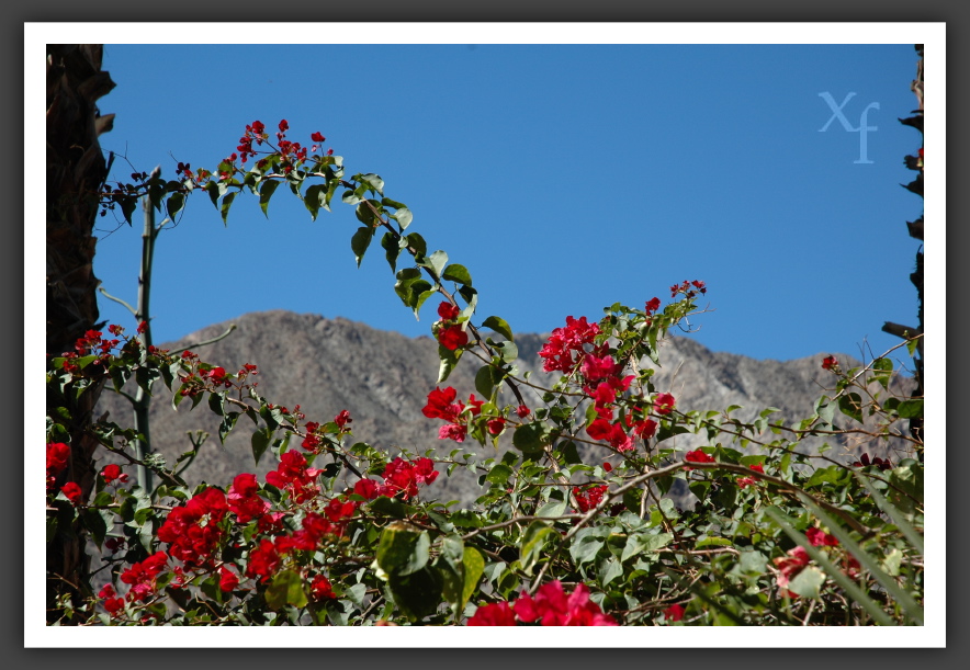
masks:
<instances>
[{"instance_id":1,"label":"clear blue sky above the rocky mountain","mask_svg":"<svg viewBox=\"0 0 970 670\"><path fill-rule=\"evenodd\" d=\"M707 282L693 322L714 351L857 357L915 322L907 274L923 211L899 184L920 134L911 44L894 45L121 45L102 137L138 171L214 168L246 124L309 144L319 130L348 174L376 172L414 212L409 230L464 264L478 321L549 331L684 280ZM870 106L866 155L853 128ZM857 162L861 158L868 163ZM113 171L127 179L122 158ZM101 219L95 273L134 304L140 220ZM228 227L190 198L156 251L155 340L266 309L430 332L394 294L375 245L360 270L352 208L311 220L280 191L264 217L240 196ZM117 229L116 229L117 228ZM132 325L102 299L102 318ZM865 344L868 342L868 344Z\"/></svg>"}]
</instances>

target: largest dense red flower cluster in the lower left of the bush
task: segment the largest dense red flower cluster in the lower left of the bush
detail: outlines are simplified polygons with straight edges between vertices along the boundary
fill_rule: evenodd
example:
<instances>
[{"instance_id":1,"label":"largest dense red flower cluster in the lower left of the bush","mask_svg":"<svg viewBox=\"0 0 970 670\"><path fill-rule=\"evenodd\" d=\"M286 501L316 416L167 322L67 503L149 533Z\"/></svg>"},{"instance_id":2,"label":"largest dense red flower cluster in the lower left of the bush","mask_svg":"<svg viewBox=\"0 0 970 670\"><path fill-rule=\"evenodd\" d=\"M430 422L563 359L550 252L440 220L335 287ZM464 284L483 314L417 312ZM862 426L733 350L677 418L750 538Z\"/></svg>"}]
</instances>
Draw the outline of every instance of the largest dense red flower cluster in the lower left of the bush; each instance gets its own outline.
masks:
<instances>
[{"instance_id":1,"label":"largest dense red flower cluster in the lower left of the bush","mask_svg":"<svg viewBox=\"0 0 970 670\"><path fill-rule=\"evenodd\" d=\"M210 565L224 536L221 522L228 511L226 495L208 487L177 507L158 529L158 538L169 544L169 554L187 566Z\"/></svg>"}]
</instances>

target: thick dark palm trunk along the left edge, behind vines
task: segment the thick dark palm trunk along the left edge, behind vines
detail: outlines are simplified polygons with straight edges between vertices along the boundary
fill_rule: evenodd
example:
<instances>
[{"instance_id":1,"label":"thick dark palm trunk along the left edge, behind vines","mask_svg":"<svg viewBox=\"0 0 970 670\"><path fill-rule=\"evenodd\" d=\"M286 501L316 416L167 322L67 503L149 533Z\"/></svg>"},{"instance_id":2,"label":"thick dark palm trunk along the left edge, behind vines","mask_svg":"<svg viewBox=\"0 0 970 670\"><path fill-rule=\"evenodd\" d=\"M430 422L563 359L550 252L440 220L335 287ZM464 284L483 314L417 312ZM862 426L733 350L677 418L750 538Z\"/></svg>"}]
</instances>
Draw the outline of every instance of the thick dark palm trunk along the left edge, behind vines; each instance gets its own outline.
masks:
<instances>
[{"instance_id":1,"label":"thick dark palm trunk along the left edge, behind vines","mask_svg":"<svg viewBox=\"0 0 970 670\"><path fill-rule=\"evenodd\" d=\"M47 355L74 350L75 341L98 321L94 276L94 222L108 166L98 136L111 129L113 114L102 116L97 101L114 88L101 70L102 46L47 45ZM76 481L84 499L94 486L88 433L101 395L97 386L68 408L71 463L58 480ZM86 538L79 529L61 529L47 545L47 620L60 618L60 597L83 594L87 582ZM67 623L67 622L65 622Z\"/></svg>"}]
</instances>

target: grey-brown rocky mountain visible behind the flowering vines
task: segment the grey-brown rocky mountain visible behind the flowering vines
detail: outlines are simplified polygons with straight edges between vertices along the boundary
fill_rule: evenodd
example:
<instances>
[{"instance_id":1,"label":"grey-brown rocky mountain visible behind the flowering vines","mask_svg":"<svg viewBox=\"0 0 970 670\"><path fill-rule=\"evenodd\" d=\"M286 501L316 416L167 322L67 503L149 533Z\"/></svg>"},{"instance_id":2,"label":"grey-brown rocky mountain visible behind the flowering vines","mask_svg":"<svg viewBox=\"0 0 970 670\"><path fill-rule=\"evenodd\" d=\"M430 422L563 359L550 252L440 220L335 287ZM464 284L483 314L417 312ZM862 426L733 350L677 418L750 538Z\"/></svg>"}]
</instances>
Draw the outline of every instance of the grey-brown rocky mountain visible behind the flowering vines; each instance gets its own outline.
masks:
<instances>
[{"instance_id":1,"label":"grey-brown rocky mountain visible behind the flowering vines","mask_svg":"<svg viewBox=\"0 0 970 670\"><path fill-rule=\"evenodd\" d=\"M436 448L439 456L463 447L483 457L495 456L492 446L482 447L474 442L456 444L437 439L440 420L429 420L421 413L427 404L428 391L435 388L438 373L437 343L429 337L406 338L399 333L375 330L363 323L342 318L326 319L314 314L294 314L273 310L247 314L232 321L236 330L226 339L195 349L203 361L222 365L229 372L245 363L259 366L258 390L269 401L292 409L300 404L308 421L330 421L343 409L353 418L353 441L368 442L374 446L425 452ZM204 341L224 332L228 322L210 326L178 342L162 344L163 349L177 349ZM543 385L552 375L542 372L542 359L538 352L546 336L519 334L516 343L521 373L532 372L531 379ZM821 368L824 354L794 361L756 361L746 356L713 353L687 338L667 340L661 350L662 366L654 377L657 389L673 393L678 409L723 410L740 405L735 416L749 420L766 407L781 410L776 417L798 420L812 413L815 400L824 387L834 384L834 376ZM844 365L855 365L849 356L837 356ZM464 356L445 385L458 389L460 399L475 393L474 374L477 360ZM905 385L911 379L899 379ZM109 385L110 387L110 385ZM541 406L538 395L523 389L530 407ZM263 455L259 465L253 464L250 448L249 421L239 419L236 429L226 440L218 442L218 418L205 404L194 410L183 402L178 411L171 407L171 393L162 384L156 387L157 401L151 406L153 450L162 454L169 464L190 450L187 433L203 430L212 436L199 457L185 472L192 486L206 481L228 486L239 473L256 473L260 479L274 468L272 454ZM504 394L506 402L512 402L511 394ZM117 395L105 391L95 416L111 412L111 419L129 425L131 408ZM255 427L253 427L255 428ZM499 452L508 448L508 434L503 436ZM771 435L771 439L775 436ZM693 447L706 444L693 435L676 438L677 446ZM725 446L728 442L724 441ZM813 444L817 447L821 441ZM300 448L298 444L291 445ZM886 455L891 445L881 451L867 445L871 455ZM596 447L580 451L584 459L598 463L608 453L597 453ZM747 451L753 451L748 448ZM850 445L833 444L832 457L849 459ZM443 468L441 468L443 469ZM424 493L426 498L441 501L460 500L462 504L474 501L480 495L475 477L459 468L450 478L443 473Z\"/></svg>"}]
</instances>

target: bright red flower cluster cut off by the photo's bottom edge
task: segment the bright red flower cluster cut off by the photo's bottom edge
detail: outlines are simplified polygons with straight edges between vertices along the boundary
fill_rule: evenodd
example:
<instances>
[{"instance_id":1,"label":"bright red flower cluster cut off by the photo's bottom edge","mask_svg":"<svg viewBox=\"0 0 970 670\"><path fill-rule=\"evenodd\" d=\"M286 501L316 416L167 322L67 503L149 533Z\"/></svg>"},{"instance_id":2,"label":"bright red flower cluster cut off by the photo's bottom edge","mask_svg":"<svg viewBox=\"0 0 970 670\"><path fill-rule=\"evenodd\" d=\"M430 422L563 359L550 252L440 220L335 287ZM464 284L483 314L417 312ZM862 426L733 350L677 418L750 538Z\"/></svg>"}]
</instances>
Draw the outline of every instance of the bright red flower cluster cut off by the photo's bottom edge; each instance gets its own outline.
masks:
<instances>
[{"instance_id":1,"label":"bright red flower cluster cut off by the photo's bottom edge","mask_svg":"<svg viewBox=\"0 0 970 670\"><path fill-rule=\"evenodd\" d=\"M478 607L469 620L470 626L515 626L517 623L541 622L543 626L616 626L612 616L589 600L589 588L577 584L566 594L559 580L544 583L533 599L525 591L514 604L499 602Z\"/></svg>"}]
</instances>

